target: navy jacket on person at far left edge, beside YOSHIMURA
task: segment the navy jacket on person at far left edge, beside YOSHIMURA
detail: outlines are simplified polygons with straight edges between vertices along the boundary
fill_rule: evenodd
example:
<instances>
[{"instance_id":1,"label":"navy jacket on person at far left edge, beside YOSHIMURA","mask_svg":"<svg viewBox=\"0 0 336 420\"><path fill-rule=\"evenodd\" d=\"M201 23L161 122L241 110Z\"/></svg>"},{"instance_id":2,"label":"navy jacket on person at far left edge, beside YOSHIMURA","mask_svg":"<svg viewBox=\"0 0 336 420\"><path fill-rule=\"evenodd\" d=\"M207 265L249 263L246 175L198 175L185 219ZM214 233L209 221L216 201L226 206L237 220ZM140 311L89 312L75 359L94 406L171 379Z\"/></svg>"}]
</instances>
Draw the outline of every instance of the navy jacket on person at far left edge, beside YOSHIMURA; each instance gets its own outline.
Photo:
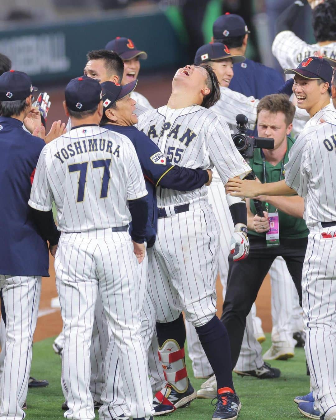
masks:
<instances>
[{"instance_id":1,"label":"navy jacket on person at far left edge, beside YOSHIMURA","mask_svg":"<svg viewBox=\"0 0 336 420\"><path fill-rule=\"evenodd\" d=\"M21 121L0 117L0 274L49 277L47 242L37 233L28 205L44 146Z\"/></svg>"}]
</instances>

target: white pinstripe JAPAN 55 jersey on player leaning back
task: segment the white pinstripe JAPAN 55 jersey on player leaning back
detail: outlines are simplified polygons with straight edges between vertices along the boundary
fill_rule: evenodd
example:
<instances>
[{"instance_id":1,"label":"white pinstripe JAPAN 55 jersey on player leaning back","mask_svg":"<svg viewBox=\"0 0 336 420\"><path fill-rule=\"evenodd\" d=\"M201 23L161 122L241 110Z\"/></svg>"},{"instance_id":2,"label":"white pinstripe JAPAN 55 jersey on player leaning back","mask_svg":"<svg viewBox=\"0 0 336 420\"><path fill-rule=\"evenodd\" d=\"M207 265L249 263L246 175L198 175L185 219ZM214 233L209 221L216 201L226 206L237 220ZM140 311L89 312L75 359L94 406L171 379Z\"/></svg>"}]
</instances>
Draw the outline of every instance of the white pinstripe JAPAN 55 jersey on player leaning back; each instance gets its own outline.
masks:
<instances>
[{"instance_id":1,"label":"white pinstripe JAPAN 55 jersey on player leaning back","mask_svg":"<svg viewBox=\"0 0 336 420\"><path fill-rule=\"evenodd\" d=\"M215 165L224 184L228 178L251 171L236 150L227 123L199 105L157 108L141 115L137 127L160 147L172 164L202 169ZM163 207L198 200L207 203L206 195L206 186L189 192L158 187L157 204Z\"/></svg>"}]
</instances>

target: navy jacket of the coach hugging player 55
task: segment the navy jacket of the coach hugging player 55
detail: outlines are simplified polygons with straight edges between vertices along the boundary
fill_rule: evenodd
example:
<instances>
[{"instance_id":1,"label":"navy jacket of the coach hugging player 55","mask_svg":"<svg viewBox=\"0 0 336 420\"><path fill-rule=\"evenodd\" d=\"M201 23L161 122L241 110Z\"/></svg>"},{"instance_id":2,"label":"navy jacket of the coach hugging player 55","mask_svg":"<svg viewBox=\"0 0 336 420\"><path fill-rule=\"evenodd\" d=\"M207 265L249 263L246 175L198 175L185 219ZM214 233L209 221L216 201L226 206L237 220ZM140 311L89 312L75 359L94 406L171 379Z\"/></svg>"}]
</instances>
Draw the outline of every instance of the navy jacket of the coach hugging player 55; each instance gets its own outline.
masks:
<instances>
[{"instance_id":1,"label":"navy jacket of the coach hugging player 55","mask_svg":"<svg viewBox=\"0 0 336 420\"><path fill-rule=\"evenodd\" d=\"M142 131L134 126L116 126L106 124L103 128L116 131L128 137L134 144L136 154L146 181L148 191L148 220L146 227L147 247L152 247L157 231L157 201L155 187L191 191L200 188L209 180L207 171L202 169L187 169L183 166L173 166L166 162L159 147ZM152 205L150 203L152 202Z\"/></svg>"}]
</instances>

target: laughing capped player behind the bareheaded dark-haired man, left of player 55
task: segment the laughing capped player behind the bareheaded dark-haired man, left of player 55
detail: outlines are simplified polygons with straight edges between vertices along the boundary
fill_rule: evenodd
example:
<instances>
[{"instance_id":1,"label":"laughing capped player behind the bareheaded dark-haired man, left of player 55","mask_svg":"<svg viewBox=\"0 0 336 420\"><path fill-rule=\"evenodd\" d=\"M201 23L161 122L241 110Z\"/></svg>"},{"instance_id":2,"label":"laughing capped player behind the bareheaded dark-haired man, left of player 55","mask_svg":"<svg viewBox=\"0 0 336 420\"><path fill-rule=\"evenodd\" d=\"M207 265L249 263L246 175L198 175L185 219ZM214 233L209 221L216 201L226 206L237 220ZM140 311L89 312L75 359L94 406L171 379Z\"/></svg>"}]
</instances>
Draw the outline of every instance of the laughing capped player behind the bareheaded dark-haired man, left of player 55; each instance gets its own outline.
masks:
<instances>
[{"instance_id":1,"label":"laughing capped player behind the bareheaded dark-haired man, left of player 55","mask_svg":"<svg viewBox=\"0 0 336 420\"><path fill-rule=\"evenodd\" d=\"M138 50L131 39L121 37L116 37L115 39L112 39L112 41L108 42L105 45L105 50L114 51L123 59L124 71L121 80L122 85L138 79L140 59L146 60L147 53ZM131 98L137 103L137 115L140 115L141 108L143 108L143 112L153 109L150 102L144 97L144 95L141 95L141 93L133 91L131 92Z\"/></svg>"}]
</instances>

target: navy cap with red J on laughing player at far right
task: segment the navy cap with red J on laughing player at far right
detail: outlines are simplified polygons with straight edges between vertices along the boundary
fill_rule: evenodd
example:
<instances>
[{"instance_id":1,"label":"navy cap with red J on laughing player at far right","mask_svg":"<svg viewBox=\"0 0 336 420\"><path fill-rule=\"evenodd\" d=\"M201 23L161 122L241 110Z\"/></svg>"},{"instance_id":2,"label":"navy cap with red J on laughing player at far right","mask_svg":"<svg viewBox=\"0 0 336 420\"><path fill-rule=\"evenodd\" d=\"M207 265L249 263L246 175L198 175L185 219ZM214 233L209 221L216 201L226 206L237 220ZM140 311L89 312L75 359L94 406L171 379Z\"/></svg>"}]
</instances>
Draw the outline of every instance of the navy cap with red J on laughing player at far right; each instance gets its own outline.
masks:
<instances>
[{"instance_id":1,"label":"navy cap with red J on laughing player at far right","mask_svg":"<svg viewBox=\"0 0 336 420\"><path fill-rule=\"evenodd\" d=\"M308 57L297 68L287 68L285 74L299 74L305 79L323 79L331 86L333 68L323 57Z\"/></svg>"}]
</instances>

